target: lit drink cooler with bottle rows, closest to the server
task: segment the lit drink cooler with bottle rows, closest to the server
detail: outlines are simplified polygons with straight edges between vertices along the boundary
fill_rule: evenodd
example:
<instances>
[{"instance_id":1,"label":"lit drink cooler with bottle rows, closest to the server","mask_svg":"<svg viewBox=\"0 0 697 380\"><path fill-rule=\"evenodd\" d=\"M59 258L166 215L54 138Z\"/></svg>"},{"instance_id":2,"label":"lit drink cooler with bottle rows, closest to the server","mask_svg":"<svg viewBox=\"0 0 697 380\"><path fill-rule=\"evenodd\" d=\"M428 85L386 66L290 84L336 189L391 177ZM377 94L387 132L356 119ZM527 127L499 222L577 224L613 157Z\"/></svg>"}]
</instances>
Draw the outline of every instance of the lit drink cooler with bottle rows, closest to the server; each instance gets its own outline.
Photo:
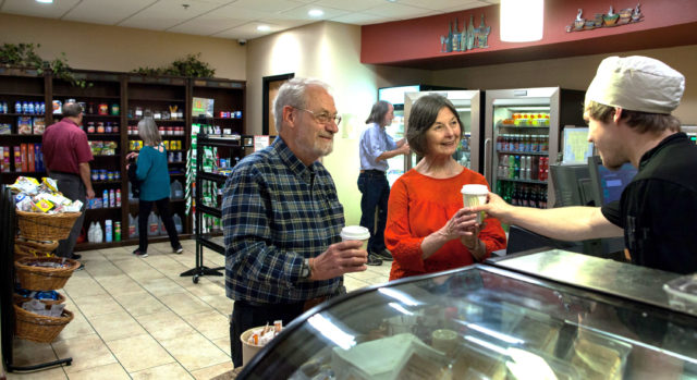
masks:
<instances>
[{"instance_id":1,"label":"lit drink cooler with bottle rows, closest to the server","mask_svg":"<svg viewBox=\"0 0 697 380\"><path fill-rule=\"evenodd\" d=\"M486 91L484 174L494 193L516 206L554 205L549 164L563 127L586 124L584 96L560 87Z\"/></svg>"}]
</instances>

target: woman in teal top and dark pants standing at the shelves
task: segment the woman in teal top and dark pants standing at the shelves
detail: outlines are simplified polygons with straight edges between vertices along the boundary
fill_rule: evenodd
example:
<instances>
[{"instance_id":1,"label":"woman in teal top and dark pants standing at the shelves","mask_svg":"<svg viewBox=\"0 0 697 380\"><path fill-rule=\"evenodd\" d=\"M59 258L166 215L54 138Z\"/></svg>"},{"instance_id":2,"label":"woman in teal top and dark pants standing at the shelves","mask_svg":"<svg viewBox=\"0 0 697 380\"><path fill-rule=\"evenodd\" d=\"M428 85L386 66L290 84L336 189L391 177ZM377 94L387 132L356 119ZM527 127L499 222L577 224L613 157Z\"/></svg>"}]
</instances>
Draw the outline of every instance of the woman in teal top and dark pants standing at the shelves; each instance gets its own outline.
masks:
<instances>
[{"instance_id":1,"label":"woman in teal top and dark pants standing at the shelves","mask_svg":"<svg viewBox=\"0 0 697 380\"><path fill-rule=\"evenodd\" d=\"M148 214L152 210L154 204L157 205L162 223L170 237L172 252L181 254L183 248L179 242L176 228L170 212L170 173L162 137L155 121L147 117L138 122L138 135L143 138L143 149L140 149L139 154L132 151L126 156L126 160L138 159L136 162L136 177L140 181L138 248L133 254L139 257L148 257Z\"/></svg>"}]
</instances>

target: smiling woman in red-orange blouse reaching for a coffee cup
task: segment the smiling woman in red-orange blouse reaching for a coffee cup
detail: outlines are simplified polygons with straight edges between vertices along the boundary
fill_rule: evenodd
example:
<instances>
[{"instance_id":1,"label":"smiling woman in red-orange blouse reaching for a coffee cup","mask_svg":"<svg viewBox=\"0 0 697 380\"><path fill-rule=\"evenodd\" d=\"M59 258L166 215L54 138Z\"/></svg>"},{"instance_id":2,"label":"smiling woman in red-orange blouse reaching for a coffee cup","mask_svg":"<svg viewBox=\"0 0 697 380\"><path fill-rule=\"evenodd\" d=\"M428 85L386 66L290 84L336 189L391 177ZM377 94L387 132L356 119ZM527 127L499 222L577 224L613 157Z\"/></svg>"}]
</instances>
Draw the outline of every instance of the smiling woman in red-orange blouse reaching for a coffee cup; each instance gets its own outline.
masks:
<instances>
[{"instance_id":1,"label":"smiling woman in red-orange blouse reaching for a coffee cup","mask_svg":"<svg viewBox=\"0 0 697 380\"><path fill-rule=\"evenodd\" d=\"M487 180L464 168L453 154L463 135L455 107L440 95L418 98L412 107L406 139L423 159L390 192L384 240L394 261L390 280L464 267L505 247L501 223L463 207L463 185Z\"/></svg>"}]
</instances>

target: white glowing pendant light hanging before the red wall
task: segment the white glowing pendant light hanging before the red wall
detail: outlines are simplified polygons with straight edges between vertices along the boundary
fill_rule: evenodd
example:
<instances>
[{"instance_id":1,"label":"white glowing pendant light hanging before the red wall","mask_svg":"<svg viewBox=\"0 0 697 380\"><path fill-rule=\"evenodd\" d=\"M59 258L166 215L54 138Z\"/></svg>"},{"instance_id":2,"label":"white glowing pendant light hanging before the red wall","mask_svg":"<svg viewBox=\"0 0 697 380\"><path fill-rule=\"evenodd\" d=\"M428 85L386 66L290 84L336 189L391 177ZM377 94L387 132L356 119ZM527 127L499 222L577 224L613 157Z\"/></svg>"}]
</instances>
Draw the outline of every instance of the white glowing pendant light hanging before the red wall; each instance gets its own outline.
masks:
<instances>
[{"instance_id":1,"label":"white glowing pendant light hanging before the red wall","mask_svg":"<svg viewBox=\"0 0 697 380\"><path fill-rule=\"evenodd\" d=\"M501 40L529 42L542 39L545 0L501 0Z\"/></svg>"}]
</instances>

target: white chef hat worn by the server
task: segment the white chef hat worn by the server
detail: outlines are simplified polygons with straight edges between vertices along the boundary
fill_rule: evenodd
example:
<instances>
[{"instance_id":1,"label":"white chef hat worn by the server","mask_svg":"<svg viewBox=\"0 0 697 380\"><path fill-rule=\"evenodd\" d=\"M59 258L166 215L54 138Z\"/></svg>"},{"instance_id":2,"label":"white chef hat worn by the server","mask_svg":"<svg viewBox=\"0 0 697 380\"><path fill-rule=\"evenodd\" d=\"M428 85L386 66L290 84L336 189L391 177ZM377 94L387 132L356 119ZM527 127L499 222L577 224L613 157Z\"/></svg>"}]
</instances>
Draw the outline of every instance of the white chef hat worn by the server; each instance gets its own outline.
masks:
<instances>
[{"instance_id":1,"label":"white chef hat worn by the server","mask_svg":"<svg viewBox=\"0 0 697 380\"><path fill-rule=\"evenodd\" d=\"M685 76L665 63L648 57L609 57L600 62L586 91L606 106L648 113L670 114L685 91Z\"/></svg>"}]
</instances>

